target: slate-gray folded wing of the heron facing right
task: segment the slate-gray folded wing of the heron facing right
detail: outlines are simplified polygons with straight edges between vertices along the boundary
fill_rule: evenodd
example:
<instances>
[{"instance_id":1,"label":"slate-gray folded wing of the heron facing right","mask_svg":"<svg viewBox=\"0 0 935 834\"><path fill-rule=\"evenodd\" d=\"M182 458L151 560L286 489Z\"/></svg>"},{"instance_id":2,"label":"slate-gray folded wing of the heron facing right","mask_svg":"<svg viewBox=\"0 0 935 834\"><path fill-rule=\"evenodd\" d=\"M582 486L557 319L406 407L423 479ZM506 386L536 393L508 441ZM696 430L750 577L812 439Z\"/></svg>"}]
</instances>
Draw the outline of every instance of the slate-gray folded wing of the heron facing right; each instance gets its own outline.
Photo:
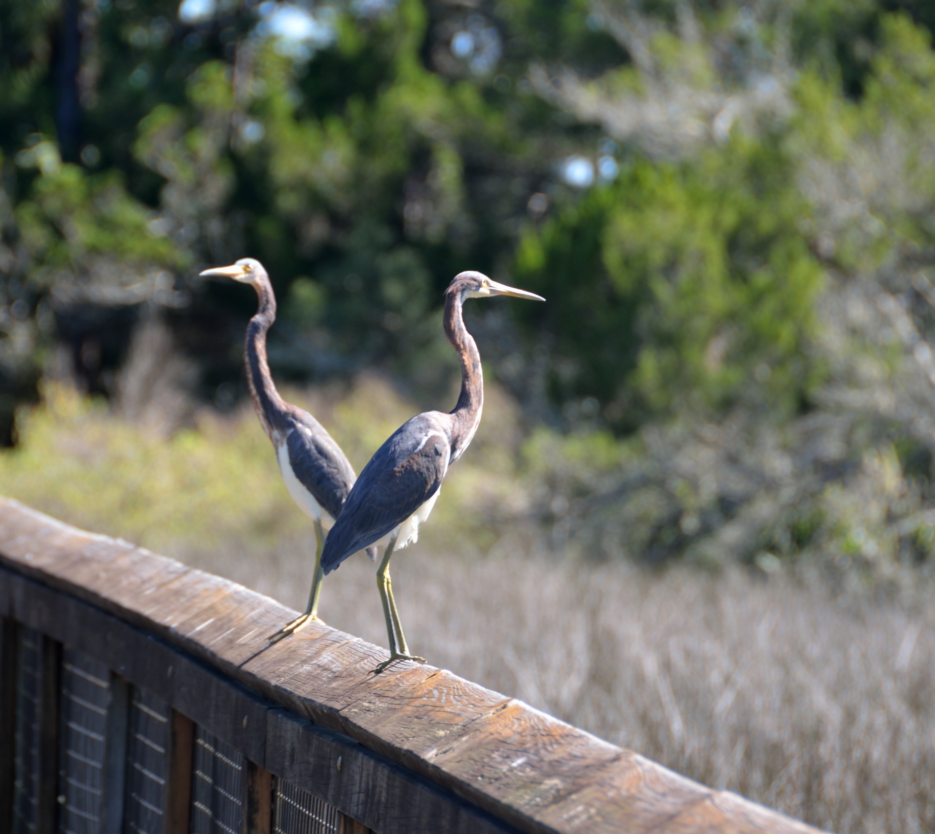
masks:
<instances>
[{"instance_id":1,"label":"slate-gray folded wing of the heron facing right","mask_svg":"<svg viewBox=\"0 0 935 834\"><path fill-rule=\"evenodd\" d=\"M439 490L451 446L438 429L417 421L383 443L360 473L324 541L325 573L402 524Z\"/></svg>"}]
</instances>

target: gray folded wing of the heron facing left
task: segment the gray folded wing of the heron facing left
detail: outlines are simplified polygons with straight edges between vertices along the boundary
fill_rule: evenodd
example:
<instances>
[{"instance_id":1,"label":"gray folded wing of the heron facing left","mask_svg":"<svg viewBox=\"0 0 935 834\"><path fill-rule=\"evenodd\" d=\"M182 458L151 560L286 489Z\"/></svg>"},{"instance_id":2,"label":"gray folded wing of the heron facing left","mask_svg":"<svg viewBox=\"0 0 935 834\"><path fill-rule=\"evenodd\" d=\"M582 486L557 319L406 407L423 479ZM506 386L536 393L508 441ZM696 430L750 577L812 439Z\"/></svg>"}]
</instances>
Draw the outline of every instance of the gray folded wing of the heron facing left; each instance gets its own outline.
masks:
<instances>
[{"instance_id":1,"label":"gray folded wing of the heron facing left","mask_svg":"<svg viewBox=\"0 0 935 834\"><path fill-rule=\"evenodd\" d=\"M295 477L332 518L338 518L354 482L353 468L324 428L298 424L286 437Z\"/></svg>"}]
</instances>

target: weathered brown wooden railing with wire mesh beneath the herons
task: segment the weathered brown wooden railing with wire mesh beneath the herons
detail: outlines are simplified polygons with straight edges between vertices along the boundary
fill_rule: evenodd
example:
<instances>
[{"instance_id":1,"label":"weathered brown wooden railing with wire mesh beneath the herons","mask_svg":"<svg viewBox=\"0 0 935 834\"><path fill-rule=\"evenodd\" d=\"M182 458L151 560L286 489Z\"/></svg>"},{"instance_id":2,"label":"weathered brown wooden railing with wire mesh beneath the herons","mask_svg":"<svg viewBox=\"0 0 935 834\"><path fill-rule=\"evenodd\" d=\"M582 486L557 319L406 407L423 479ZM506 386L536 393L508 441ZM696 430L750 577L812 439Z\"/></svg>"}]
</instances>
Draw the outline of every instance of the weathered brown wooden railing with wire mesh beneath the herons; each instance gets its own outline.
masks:
<instances>
[{"instance_id":1,"label":"weathered brown wooden railing with wire mesh beneath the herons","mask_svg":"<svg viewBox=\"0 0 935 834\"><path fill-rule=\"evenodd\" d=\"M0 831L814 831L294 615L0 498Z\"/></svg>"}]
</instances>

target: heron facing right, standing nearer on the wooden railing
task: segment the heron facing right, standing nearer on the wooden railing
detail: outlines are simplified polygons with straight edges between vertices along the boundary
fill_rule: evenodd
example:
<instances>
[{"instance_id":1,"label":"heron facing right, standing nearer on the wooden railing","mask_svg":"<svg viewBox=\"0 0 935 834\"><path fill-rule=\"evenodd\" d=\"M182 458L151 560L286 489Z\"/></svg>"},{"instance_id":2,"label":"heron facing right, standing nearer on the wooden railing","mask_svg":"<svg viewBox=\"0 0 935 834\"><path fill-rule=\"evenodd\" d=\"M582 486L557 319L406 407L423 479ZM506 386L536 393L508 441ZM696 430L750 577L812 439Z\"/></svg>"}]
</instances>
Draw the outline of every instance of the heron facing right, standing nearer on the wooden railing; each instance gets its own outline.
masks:
<instances>
[{"instance_id":1,"label":"heron facing right, standing nearer on the wooden railing","mask_svg":"<svg viewBox=\"0 0 935 834\"><path fill-rule=\"evenodd\" d=\"M445 291L444 327L445 336L461 360L457 404L448 413L424 411L396 429L360 473L324 541L323 575L361 548L389 535L377 569L377 587L390 657L375 669L378 673L396 660L425 662L424 657L410 654L403 634L390 582L390 557L419 538L419 527L435 507L448 468L464 454L481 423L481 354L465 327L462 308L468 298L494 295L545 300L541 295L498 283L481 272L461 272L454 277Z\"/></svg>"}]
</instances>

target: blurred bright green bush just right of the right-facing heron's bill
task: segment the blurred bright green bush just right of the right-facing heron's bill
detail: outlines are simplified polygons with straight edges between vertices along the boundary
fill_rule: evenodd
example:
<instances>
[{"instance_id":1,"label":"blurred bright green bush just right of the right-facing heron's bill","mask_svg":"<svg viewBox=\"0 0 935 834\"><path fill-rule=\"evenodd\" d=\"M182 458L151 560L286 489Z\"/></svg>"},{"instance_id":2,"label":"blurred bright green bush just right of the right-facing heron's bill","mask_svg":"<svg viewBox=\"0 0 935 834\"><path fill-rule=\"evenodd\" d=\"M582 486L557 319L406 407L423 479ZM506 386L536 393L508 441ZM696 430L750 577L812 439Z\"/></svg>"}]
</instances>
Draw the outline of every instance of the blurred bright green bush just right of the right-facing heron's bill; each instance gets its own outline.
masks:
<instances>
[{"instance_id":1,"label":"blurred bright green bush just right of the right-facing heron's bill","mask_svg":"<svg viewBox=\"0 0 935 834\"><path fill-rule=\"evenodd\" d=\"M780 142L737 135L690 163L635 160L528 232L516 271L554 301L546 320L568 361L554 396L597 395L618 426L680 403L723 408L745 387L796 410L818 374L807 214Z\"/></svg>"}]
</instances>

